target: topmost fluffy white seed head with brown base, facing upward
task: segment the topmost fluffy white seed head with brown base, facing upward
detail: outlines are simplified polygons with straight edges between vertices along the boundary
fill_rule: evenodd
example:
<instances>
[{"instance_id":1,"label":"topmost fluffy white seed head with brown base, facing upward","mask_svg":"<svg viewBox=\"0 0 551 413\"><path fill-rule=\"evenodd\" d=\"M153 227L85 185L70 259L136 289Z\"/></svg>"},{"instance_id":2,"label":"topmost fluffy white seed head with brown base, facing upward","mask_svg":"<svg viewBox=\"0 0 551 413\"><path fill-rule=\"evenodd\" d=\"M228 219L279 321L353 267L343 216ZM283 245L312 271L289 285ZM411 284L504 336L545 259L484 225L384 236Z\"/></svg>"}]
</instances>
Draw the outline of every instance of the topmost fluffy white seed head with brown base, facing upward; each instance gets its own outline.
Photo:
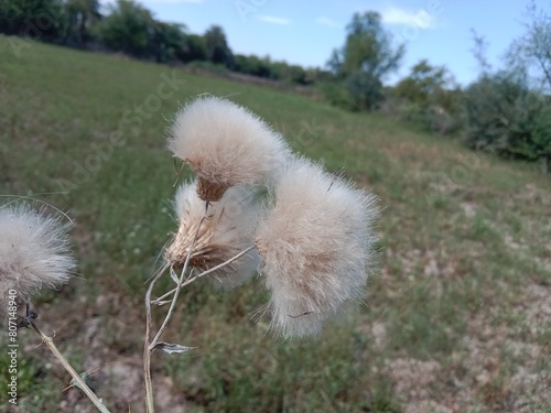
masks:
<instances>
[{"instance_id":1,"label":"topmost fluffy white seed head with brown base, facing upward","mask_svg":"<svg viewBox=\"0 0 551 413\"><path fill-rule=\"evenodd\" d=\"M257 115L212 96L177 113L169 149L195 170L205 200L218 200L237 184L266 182L290 153L282 137Z\"/></svg>"}]
</instances>

